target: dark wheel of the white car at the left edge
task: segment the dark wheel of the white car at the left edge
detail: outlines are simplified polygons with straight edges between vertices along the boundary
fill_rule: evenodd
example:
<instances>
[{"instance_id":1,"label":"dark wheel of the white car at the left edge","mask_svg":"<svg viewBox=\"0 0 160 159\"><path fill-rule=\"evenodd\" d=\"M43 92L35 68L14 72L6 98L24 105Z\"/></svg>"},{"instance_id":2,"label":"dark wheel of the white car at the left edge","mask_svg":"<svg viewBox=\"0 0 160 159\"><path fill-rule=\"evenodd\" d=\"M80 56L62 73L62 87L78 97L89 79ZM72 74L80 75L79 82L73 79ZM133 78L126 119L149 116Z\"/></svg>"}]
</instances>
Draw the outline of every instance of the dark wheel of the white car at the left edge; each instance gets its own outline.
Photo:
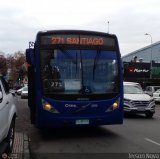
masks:
<instances>
[{"instance_id":1,"label":"dark wheel of the white car at the left edge","mask_svg":"<svg viewBox=\"0 0 160 159\"><path fill-rule=\"evenodd\" d=\"M15 118L12 119L8 135L6 137L6 142L8 143L7 148L6 148L6 153L10 154L13 149L13 143L14 143L14 136L15 136Z\"/></svg>"}]
</instances>

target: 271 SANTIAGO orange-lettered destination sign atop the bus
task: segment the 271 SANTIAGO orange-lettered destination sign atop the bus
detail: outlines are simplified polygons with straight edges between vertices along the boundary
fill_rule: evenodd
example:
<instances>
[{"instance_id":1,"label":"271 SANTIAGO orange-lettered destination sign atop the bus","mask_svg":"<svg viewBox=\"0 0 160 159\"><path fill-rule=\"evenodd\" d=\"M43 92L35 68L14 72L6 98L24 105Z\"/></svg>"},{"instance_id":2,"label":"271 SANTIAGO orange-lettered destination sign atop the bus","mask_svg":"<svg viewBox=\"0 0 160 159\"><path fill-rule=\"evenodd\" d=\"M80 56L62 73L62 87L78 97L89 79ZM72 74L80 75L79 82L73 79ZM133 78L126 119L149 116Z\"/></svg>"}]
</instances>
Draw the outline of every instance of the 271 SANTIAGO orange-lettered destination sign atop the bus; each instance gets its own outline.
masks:
<instances>
[{"instance_id":1,"label":"271 SANTIAGO orange-lettered destination sign atop the bus","mask_svg":"<svg viewBox=\"0 0 160 159\"><path fill-rule=\"evenodd\" d=\"M42 45L95 45L115 46L115 40L111 37L89 35L48 35L41 37Z\"/></svg>"}]
</instances>

